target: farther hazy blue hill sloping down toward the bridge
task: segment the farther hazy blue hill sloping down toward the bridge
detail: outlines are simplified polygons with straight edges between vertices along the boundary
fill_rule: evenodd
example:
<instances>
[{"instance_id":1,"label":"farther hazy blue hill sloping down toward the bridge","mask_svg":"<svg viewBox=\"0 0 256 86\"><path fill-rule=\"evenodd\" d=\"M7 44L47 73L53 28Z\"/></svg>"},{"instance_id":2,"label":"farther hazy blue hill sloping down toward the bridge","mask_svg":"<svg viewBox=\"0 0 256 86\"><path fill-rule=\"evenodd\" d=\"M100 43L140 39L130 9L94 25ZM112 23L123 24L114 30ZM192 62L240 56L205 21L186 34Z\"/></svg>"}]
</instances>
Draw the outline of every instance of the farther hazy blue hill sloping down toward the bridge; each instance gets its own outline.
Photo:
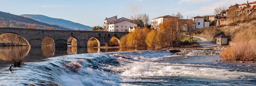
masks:
<instances>
[{"instance_id":1,"label":"farther hazy blue hill sloping down toward the bridge","mask_svg":"<svg viewBox=\"0 0 256 86\"><path fill-rule=\"evenodd\" d=\"M40 22L44 22L44 23L47 23L50 25L58 25L61 27L72 29L72 30L78 30L79 25L80 25L80 30L84 30L84 29L90 30L90 31L92 30L92 27L90 27L90 26L82 25L79 23L75 23L75 22L60 19L60 18L51 18L51 17L47 17L44 15L31 15L31 14L24 14L24 15L20 15L20 16L23 16L26 18L32 18L32 19L35 19Z\"/></svg>"}]
</instances>

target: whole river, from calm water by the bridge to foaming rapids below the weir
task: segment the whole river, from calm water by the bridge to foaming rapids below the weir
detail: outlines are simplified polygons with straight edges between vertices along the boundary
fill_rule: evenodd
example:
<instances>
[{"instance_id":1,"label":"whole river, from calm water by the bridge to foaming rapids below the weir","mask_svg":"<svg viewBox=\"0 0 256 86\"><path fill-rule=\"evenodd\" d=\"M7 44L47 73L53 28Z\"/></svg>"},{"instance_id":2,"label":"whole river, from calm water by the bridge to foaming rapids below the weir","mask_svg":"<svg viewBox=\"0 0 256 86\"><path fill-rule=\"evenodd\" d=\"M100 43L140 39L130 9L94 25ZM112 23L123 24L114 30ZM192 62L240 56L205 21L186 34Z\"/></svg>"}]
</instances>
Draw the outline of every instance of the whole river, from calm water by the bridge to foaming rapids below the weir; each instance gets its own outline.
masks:
<instances>
[{"instance_id":1,"label":"whole river, from calm water by the bridge to foaming rapids below the weir","mask_svg":"<svg viewBox=\"0 0 256 86\"><path fill-rule=\"evenodd\" d=\"M255 63L215 61L222 60L218 55L185 57L168 50L1 47L0 56L0 86L256 85ZM10 72L9 57L17 56L24 56L27 62ZM64 64L79 62L82 68L72 71L62 67L61 58L65 58Z\"/></svg>"}]
</instances>

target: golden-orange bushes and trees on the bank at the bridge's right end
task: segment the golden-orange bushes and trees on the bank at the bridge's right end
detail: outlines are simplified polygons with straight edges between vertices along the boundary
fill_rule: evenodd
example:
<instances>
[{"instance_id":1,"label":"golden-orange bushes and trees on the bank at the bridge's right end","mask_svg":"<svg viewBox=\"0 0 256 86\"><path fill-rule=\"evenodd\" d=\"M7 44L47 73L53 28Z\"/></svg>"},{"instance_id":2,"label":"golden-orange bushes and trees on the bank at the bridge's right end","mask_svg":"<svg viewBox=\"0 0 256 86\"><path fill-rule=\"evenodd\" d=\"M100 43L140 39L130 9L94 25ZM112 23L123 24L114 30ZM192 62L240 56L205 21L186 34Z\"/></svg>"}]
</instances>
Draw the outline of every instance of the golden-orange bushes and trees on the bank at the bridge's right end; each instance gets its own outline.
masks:
<instances>
[{"instance_id":1,"label":"golden-orange bushes and trees on the bank at the bridge's right end","mask_svg":"<svg viewBox=\"0 0 256 86\"><path fill-rule=\"evenodd\" d=\"M180 47L184 44L181 41L184 35L181 33L182 24L180 22L178 19L166 20L155 30L135 28L134 32L120 39L120 47L155 49Z\"/></svg>"}]
</instances>

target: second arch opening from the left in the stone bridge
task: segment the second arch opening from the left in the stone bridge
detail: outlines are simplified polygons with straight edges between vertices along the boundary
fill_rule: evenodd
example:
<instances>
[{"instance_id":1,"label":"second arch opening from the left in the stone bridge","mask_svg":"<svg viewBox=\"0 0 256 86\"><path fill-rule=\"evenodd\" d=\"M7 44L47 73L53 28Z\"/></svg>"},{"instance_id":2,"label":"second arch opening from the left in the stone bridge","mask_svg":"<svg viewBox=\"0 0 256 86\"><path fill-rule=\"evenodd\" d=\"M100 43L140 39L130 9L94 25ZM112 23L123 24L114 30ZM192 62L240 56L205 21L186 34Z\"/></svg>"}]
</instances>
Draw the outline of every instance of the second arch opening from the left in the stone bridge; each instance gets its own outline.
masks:
<instances>
[{"instance_id":1,"label":"second arch opening from the left in the stone bridge","mask_svg":"<svg viewBox=\"0 0 256 86\"><path fill-rule=\"evenodd\" d=\"M54 39L50 36L44 37L41 41L41 46L55 46Z\"/></svg>"}]
</instances>

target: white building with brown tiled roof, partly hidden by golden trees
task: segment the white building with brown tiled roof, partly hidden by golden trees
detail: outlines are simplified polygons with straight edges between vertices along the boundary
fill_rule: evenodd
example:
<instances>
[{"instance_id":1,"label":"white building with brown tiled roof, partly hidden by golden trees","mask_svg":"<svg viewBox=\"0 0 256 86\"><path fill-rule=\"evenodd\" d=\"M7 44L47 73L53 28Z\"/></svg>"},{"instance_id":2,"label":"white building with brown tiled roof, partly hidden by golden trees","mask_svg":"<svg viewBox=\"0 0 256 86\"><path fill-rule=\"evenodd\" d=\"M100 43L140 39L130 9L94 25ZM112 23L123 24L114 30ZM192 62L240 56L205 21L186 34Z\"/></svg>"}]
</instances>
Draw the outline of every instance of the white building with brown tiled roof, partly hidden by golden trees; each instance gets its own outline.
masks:
<instances>
[{"instance_id":1,"label":"white building with brown tiled roof, partly hidden by golden trees","mask_svg":"<svg viewBox=\"0 0 256 86\"><path fill-rule=\"evenodd\" d=\"M170 20L170 19L177 19L177 17L170 16L170 15L166 15L166 16L154 18L154 19L151 20L151 28L156 29L157 26L158 26L160 23L163 23L165 20Z\"/></svg>"}]
</instances>

